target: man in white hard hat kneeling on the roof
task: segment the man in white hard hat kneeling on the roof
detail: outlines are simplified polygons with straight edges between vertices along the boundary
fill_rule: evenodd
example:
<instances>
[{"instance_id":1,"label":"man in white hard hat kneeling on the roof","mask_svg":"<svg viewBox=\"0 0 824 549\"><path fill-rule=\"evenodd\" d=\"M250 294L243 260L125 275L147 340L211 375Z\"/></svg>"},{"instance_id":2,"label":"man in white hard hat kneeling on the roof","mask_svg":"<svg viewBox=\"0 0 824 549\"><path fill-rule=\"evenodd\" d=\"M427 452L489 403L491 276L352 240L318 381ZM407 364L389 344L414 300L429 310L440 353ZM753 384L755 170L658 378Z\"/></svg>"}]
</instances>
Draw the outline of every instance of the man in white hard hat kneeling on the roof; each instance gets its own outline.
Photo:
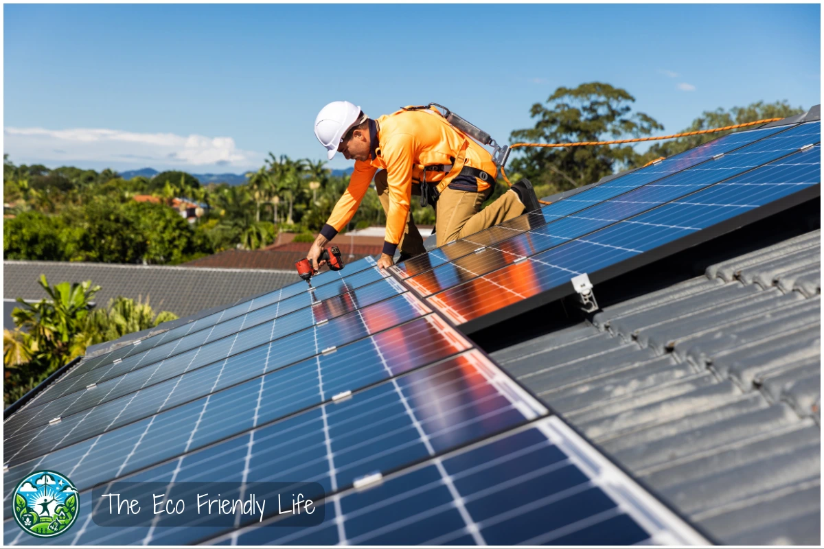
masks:
<instances>
[{"instance_id":1,"label":"man in white hard hat kneeling on the roof","mask_svg":"<svg viewBox=\"0 0 824 549\"><path fill-rule=\"evenodd\" d=\"M494 191L497 166L484 147L437 112L407 107L370 119L349 101L335 101L317 115L315 136L329 160L336 152L355 160L349 187L307 254L315 268L325 245L358 211L372 177L386 212L380 268L392 265L398 247L401 261L425 251L410 211L413 194L436 207L438 246L539 207L532 185L522 180L481 210Z\"/></svg>"}]
</instances>

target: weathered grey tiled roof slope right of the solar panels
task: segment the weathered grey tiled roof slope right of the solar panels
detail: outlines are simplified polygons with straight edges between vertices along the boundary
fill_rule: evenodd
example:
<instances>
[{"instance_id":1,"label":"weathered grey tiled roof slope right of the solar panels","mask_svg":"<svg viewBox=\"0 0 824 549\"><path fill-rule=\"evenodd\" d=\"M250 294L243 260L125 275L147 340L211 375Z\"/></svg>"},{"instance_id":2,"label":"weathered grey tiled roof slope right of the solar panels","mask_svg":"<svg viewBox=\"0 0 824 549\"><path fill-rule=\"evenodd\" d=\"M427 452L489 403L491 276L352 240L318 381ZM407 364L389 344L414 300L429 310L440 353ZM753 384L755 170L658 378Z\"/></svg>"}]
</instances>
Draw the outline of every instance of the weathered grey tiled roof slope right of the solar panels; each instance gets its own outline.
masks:
<instances>
[{"instance_id":1,"label":"weathered grey tiled roof slope right of the solar panels","mask_svg":"<svg viewBox=\"0 0 824 549\"><path fill-rule=\"evenodd\" d=\"M818 545L820 333L813 230L492 356L720 542Z\"/></svg>"}]
</instances>

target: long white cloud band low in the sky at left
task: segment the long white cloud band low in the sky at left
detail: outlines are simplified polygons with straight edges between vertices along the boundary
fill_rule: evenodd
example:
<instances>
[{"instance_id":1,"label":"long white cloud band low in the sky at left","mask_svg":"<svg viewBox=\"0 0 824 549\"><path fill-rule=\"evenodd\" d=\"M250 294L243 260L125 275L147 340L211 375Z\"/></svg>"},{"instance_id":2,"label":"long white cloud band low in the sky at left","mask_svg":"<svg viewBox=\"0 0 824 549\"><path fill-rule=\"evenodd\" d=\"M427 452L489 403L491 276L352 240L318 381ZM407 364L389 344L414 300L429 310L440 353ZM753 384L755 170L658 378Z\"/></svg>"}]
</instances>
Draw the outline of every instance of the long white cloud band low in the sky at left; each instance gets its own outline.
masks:
<instances>
[{"instance_id":1,"label":"long white cloud band low in the sky at left","mask_svg":"<svg viewBox=\"0 0 824 549\"><path fill-rule=\"evenodd\" d=\"M3 128L5 152L13 158L40 161L96 161L122 164L247 168L260 164L262 156L242 151L232 137L206 137L174 133L134 133L113 129ZM124 160L125 159L125 160Z\"/></svg>"}]
</instances>

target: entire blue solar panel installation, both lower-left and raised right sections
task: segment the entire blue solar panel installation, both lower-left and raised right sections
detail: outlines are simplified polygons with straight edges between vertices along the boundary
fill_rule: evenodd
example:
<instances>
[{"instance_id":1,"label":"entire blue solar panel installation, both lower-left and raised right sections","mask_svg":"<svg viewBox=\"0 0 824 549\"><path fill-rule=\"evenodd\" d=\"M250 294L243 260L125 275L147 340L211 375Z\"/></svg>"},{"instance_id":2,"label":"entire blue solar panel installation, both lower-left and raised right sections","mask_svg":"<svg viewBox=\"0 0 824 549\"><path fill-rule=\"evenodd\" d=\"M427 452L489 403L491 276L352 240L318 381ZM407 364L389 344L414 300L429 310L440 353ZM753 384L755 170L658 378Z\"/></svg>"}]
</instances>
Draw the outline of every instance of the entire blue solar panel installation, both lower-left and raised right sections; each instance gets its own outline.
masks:
<instances>
[{"instance_id":1,"label":"entire blue solar panel installation, both lower-left and raised right sections","mask_svg":"<svg viewBox=\"0 0 824 549\"><path fill-rule=\"evenodd\" d=\"M819 143L817 122L731 134L394 277L363 259L90 357L4 422L4 542L48 541L9 528L13 487L38 470L80 491L60 544L704 542L454 325L498 322L568 295L580 273L603 280L817 196ZM316 482L307 496L326 519L99 526L92 487L124 479Z\"/></svg>"}]
</instances>

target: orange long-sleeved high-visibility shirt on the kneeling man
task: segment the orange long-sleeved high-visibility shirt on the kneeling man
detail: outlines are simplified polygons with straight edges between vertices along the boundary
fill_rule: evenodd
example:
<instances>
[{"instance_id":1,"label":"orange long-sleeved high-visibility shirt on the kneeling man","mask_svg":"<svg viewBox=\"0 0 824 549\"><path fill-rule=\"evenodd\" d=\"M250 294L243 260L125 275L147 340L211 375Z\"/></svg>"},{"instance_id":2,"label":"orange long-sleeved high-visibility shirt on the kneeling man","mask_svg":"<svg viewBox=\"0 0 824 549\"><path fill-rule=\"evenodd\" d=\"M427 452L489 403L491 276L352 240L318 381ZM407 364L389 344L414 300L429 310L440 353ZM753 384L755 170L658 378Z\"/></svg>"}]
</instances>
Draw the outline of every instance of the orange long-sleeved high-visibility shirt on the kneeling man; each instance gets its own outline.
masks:
<instances>
[{"instance_id":1,"label":"orange long-sleeved high-visibility shirt on the kneeling man","mask_svg":"<svg viewBox=\"0 0 824 549\"><path fill-rule=\"evenodd\" d=\"M420 182L424 166L451 165L467 141L466 165L496 174L497 167L489 152L438 114L424 110L399 110L380 117L377 119L377 154L369 161L355 161L349 187L335 205L321 234L331 240L352 220L375 172L385 169L389 212L386 212L383 251L385 254L395 254L410 211L413 181ZM376 148L375 143L372 143L372 148ZM427 172L426 180L437 182L445 176L442 172ZM475 181L478 192L489 188L484 180L475 178Z\"/></svg>"}]
</instances>

